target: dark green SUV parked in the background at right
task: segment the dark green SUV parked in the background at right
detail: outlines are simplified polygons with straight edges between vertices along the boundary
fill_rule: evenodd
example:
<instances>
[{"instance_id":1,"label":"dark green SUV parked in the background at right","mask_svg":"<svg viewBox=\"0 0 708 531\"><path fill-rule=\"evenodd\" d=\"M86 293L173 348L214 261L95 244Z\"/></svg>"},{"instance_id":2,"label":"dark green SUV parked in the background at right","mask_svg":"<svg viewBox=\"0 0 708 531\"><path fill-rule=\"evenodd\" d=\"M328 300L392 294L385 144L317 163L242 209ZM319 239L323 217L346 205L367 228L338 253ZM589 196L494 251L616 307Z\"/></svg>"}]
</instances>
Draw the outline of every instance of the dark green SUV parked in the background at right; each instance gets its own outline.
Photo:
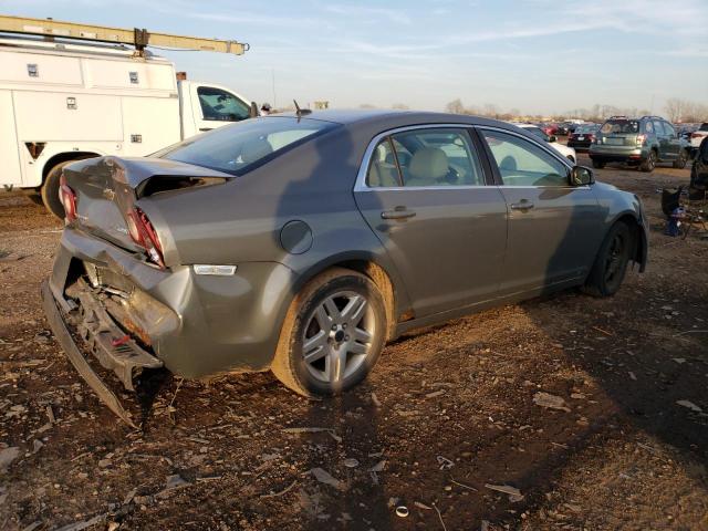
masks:
<instances>
[{"instance_id":1,"label":"dark green SUV parked in the background at right","mask_svg":"<svg viewBox=\"0 0 708 531\"><path fill-rule=\"evenodd\" d=\"M602 125L590 146L595 168L603 168L606 163L626 163L642 171L653 171L656 163L684 168L688 154L688 143L659 116L613 116Z\"/></svg>"}]
</instances>

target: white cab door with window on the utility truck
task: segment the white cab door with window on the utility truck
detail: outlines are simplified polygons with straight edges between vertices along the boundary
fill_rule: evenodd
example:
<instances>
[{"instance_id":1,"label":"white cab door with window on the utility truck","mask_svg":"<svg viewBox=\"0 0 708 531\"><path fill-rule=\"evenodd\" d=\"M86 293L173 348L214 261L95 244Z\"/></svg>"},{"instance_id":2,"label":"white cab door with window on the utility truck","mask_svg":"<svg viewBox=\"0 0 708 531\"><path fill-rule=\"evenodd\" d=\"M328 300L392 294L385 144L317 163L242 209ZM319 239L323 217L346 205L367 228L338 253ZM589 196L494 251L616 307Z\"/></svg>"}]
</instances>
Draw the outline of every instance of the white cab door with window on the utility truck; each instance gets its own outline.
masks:
<instances>
[{"instance_id":1,"label":"white cab door with window on the utility truck","mask_svg":"<svg viewBox=\"0 0 708 531\"><path fill-rule=\"evenodd\" d=\"M214 85L192 84L191 112L194 133L185 126L185 137L240 122L250 116L250 105L232 92ZM187 119L187 117L185 117Z\"/></svg>"}]
</instances>

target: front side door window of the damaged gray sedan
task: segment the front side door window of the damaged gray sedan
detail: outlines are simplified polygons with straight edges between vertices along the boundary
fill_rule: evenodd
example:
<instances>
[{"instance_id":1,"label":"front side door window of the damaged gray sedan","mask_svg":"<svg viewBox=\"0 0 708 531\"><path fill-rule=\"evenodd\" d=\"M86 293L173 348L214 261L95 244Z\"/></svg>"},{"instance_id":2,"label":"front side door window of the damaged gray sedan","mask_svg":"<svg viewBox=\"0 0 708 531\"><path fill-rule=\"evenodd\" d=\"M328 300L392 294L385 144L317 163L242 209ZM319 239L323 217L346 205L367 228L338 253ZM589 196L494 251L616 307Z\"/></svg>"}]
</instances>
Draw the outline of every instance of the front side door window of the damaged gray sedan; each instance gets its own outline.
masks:
<instances>
[{"instance_id":1,"label":"front side door window of the damaged gray sedan","mask_svg":"<svg viewBox=\"0 0 708 531\"><path fill-rule=\"evenodd\" d=\"M568 167L514 135L482 129L504 186L569 186Z\"/></svg>"}]
</instances>

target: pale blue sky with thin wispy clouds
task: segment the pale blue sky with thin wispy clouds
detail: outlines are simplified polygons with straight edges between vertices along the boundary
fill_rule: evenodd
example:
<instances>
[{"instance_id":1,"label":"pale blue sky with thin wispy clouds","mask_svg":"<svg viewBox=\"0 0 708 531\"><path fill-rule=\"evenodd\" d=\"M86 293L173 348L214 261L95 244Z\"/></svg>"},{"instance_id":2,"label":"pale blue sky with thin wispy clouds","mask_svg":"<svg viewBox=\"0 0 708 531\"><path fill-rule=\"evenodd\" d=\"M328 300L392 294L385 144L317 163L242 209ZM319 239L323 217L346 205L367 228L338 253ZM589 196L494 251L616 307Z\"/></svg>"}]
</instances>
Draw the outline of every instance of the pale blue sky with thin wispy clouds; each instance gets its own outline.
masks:
<instances>
[{"instance_id":1,"label":"pale blue sky with thin wispy clouds","mask_svg":"<svg viewBox=\"0 0 708 531\"><path fill-rule=\"evenodd\" d=\"M159 53L278 105L708 104L708 0L0 0L0 12L248 42L243 56Z\"/></svg>"}]
</instances>

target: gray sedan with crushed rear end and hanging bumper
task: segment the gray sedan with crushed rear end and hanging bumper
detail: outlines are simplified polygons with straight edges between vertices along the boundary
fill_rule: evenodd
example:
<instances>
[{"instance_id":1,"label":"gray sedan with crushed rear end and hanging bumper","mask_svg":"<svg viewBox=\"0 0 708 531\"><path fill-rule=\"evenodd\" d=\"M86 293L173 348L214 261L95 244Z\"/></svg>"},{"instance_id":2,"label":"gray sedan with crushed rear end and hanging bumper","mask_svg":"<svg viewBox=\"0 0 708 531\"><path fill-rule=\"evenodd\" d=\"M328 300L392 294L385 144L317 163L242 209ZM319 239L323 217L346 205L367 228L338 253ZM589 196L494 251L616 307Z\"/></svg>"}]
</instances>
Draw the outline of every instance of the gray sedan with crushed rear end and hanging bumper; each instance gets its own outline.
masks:
<instances>
[{"instance_id":1,"label":"gray sedan with crushed rear end and hanging bumper","mask_svg":"<svg viewBox=\"0 0 708 531\"><path fill-rule=\"evenodd\" d=\"M406 331L573 287L612 295L647 260L636 196L470 116L260 117L150 158L72 164L60 196L45 312L124 418L86 351L128 389L164 366L271 369L332 395Z\"/></svg>"}]
</instances>

